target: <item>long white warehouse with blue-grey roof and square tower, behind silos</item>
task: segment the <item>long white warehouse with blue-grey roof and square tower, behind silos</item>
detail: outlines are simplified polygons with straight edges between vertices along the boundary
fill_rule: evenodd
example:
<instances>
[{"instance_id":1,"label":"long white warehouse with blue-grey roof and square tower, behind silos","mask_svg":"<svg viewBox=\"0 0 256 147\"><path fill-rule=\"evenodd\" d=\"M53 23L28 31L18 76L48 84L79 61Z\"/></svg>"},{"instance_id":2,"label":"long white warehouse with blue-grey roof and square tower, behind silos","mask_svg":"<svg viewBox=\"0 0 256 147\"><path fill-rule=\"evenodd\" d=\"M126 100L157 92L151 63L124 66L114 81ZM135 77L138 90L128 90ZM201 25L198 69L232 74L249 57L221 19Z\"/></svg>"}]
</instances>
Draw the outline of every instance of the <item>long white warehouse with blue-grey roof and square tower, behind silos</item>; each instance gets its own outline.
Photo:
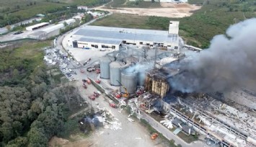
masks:
<instances>
[{"instance_id":1,"label":"long white warehouse with blue-grey roof and square tower, behind silos","mask_svg":"<svg viewBox=\"0 0 256 147\"><path fill-rule=\"evenodd\" d=\"M86 26L74 33L74 48L98 48L119 50L122 44L138 48L154 45L167 50L179 51L179 22L170 21L169 31L138 30L120 27Z\"/></svg>"}]
</instances>

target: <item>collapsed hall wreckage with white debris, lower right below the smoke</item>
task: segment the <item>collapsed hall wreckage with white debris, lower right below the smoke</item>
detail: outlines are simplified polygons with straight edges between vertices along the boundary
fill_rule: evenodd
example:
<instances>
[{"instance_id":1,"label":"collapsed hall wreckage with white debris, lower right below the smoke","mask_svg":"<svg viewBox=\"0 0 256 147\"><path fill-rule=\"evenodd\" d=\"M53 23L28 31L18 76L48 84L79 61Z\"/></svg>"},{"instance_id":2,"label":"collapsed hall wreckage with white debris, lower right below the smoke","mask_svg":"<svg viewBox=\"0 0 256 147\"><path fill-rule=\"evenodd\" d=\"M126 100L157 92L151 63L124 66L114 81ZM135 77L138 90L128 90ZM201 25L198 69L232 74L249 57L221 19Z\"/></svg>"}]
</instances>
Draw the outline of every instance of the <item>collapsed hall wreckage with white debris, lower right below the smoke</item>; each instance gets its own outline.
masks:
<instances>
[{"instance_id":1,"label":"collapsed hall wreckage with white debris, lower right below the smoke","mask_svg":"<svg viewBox=\"0 0 256 147\"><path fill-rule=\"evenodd\" d=\"M178 99L178 102L180 104L171 108L172 115L214 138L209 137L209 140L225 146L256 144L256 118L246 112L203 94L197 98ZM188 111L184 112L184 109Z\"/></svg>"}]
</instances>

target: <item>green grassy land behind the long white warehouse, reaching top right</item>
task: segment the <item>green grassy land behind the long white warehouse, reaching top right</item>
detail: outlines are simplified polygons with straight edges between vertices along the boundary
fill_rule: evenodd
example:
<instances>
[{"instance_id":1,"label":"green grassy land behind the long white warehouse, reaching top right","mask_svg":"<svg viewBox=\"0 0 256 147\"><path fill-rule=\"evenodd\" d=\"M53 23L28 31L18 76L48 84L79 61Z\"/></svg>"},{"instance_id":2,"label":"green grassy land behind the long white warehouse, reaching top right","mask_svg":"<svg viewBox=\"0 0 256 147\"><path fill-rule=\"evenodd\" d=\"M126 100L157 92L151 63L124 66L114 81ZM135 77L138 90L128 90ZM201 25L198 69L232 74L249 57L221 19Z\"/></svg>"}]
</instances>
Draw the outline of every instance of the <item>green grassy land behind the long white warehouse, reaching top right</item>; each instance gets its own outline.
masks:
<instances>
[{"instance_id":1,"label":"green grassy land behind the long white warehouse, reaching top right","mask_svg":"<svg viewBox=\"0 0 256 147\"><path fill-rule=\"evenodd\" d=\"M202 4L202 0L191 0L191 4ZM128 27L152 30L167 30L169 20L180 21L180 36L189 45L208 48L214 35L225 34L230 24L244 19L256 17L256 2L229 3L228 1L215 0L205 2L201 9L190 17L139 17L128 14L113 14L100 19L92 25L109 27Z\"/></svg>"}]
</instances>

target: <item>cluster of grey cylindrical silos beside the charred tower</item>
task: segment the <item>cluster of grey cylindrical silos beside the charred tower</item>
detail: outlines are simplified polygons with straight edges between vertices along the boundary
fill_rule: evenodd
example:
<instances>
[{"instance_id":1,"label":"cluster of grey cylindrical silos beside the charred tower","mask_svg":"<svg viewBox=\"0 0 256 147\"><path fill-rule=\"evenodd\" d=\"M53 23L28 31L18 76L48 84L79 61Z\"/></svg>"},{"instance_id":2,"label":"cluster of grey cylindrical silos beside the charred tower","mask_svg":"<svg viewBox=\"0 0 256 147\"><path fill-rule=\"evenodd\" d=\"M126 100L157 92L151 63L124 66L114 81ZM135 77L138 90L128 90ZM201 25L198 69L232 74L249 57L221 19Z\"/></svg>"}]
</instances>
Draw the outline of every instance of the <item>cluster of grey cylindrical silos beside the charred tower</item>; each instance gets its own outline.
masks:
<instances>
[{"instance_id":1,"label":"cluster of grey cylindrical silos beside the charred tower","mask_svg":"<svg viewBox=\"0 0 256 147\"><path fill-rule=\"evenodd\" d=\"M122 61L114 61L114 58L103 57L100 59L100 78L110 79L112 86L120 86L127 89L129 94L136 92L137 86L144 85L145 70L149 65L139 62L138 58L128 56ZM121 86L121 92L125 92Z\"/></svg>"}]
</instances>

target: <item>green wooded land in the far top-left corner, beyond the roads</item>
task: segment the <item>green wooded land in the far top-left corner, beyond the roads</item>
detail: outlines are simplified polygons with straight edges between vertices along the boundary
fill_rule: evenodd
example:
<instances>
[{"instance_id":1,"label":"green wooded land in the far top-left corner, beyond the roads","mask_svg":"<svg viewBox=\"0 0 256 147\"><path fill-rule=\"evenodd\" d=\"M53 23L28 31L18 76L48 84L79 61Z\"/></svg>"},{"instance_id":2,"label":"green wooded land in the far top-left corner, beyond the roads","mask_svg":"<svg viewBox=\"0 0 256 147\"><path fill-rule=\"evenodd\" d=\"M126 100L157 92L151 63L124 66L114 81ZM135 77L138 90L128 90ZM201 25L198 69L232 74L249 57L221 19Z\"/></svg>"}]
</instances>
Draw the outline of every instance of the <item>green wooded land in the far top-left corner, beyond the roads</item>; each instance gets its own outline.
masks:
<instances>
[{"instance_id":1,"label":"green wooded land in the far top-left corner, beyond the roads","mask_svg":"<svg viewBox=\"0 0 256 147\"><path fill-rule=\"evenodd\" d=\"M77 5L98 6L109 2L110 0L1 0L0 1L0 27L6 27L10 24L22 22L25 19L36 17L37 14L45 14L43 21L58 21L59 16L66 19L78 12Z\"/></svg>"}]
</instances>

